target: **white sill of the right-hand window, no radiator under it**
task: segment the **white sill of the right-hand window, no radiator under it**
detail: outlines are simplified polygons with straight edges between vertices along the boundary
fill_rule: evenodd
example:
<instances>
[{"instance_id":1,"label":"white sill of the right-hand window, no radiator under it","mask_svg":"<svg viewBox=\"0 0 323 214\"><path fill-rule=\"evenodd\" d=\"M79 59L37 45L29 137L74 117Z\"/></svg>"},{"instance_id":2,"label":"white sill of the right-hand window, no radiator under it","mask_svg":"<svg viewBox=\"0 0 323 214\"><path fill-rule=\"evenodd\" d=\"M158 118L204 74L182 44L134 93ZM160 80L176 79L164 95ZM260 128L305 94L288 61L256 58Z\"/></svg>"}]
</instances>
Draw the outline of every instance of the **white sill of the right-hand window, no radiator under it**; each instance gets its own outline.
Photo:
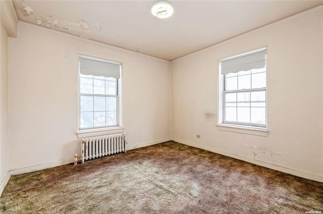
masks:
<instances>
[{"instance_id":1,"label":"white sill of the right-hand window, no radiator under it","mask_svg":"<svg viewBox=\"0 0 323 214\"><path fill-rule=\"evenodd\" d=\"M244 126L244 125L232 125L232 124L224 124L220 123L217 124L218 130L222 131L232 131L244 134L252 134L258 136L267 136L268 130L262 127L251 127L251 126Z\"/></svg>"}]
</instances>

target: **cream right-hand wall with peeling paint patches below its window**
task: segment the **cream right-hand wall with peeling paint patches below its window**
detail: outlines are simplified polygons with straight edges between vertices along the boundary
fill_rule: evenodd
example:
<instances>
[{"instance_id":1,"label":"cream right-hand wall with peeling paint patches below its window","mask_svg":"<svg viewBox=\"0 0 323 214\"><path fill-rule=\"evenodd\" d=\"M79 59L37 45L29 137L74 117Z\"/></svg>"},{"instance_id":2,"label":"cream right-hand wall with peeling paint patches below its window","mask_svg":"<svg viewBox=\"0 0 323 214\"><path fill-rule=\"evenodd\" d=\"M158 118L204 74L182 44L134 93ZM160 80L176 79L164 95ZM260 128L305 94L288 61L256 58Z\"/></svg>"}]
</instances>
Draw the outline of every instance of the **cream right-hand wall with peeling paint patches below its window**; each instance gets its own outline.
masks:
<instances>
[{"instance_id":1,"label":"cream right-hand wall with peeling paint patches below its window","mask_svg":"<svg viewBox=\"0 0 323 214\"><path fill-rule=\"evenodd\" d=\"M322 19L318 7L172 61L173 139L323 181ZM218 60L264 46L268 135L218 130Z\"/></svg>"}]
</instances>

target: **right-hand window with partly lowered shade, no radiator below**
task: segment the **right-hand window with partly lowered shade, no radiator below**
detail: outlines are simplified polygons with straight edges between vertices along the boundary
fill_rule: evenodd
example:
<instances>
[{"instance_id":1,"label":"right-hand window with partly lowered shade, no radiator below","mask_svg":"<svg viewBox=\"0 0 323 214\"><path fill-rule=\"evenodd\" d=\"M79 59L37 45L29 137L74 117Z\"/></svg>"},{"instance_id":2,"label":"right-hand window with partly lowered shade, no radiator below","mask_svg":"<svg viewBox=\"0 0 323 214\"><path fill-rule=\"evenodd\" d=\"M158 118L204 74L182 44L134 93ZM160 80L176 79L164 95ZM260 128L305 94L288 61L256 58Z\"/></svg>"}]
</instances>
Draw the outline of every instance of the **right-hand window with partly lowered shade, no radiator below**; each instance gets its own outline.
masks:
<instances>
[{"instance_id":1,"label":"right-hand window with partly lowered shade, no radiator below","mask_svg":"<svg viewBox=\"0 0 323 214\"><path fill-rule=\"evenodd\" d=\"M266 50L220 60L219 123L266 127Z\"/></svg>"}]
</instances>

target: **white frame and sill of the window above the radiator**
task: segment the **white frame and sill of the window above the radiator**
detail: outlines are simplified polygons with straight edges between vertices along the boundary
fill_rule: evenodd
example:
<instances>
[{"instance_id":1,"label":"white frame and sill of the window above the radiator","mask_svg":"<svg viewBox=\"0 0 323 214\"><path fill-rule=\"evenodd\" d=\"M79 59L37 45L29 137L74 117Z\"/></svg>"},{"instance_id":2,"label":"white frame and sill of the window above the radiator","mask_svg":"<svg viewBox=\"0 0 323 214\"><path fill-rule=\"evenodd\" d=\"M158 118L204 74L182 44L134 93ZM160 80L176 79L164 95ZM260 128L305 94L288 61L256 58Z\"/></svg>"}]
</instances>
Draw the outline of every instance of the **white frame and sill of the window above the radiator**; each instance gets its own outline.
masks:
<instances>
[{"instance_id":1,"label":"white frame and sill of the window above the radiator","mask_svg":"<svg viewBox=\"0 0 323 214\"><path fill-rule=\"evenodd\" d=\"M123 121L122 120L122 109L123 109L122 108L122 68L123 68L122 62L108 60L108 59L102 59L102 58L98 58L98 57L91 57L91 56L86 56L86 55L79 55L78 59L80 57L120 65L120 78L117 79L117 95L102 95L104 97L105 96L117 97L117 124L114 126L80 128L80 120L81 120L80 96L86 95L86 94L80 93L80 74L81 73L79 70L79 73L78 73L78 131L77 131L78 138L123 132L124 128L122 126L122 123L123 123L122 122ZM78 66L78 67L80 67L80 66ZM89 94L89 95L93 96L92 94ZM94 95L94 96L97 96L97 95Z\"/></svg>"}]
</instances>

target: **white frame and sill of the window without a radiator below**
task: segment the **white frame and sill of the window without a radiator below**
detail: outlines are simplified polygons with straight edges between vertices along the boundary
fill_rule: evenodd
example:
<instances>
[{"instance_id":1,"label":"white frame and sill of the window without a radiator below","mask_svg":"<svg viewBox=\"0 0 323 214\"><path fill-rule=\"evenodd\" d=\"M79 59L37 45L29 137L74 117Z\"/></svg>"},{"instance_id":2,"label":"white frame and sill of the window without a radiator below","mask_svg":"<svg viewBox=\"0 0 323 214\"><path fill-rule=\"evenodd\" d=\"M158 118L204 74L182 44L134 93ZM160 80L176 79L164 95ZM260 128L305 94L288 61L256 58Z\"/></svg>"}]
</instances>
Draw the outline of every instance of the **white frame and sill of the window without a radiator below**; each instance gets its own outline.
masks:
<instances>
[{"instance_id":1,"label":"white frame and sill of the window without a radiator below","mask_svg":"<svg viewBox=\"0 0 323 214\"><path fill-rule=\"evenodd\" d=\"M245 55L248 53L256 52L261 49L266 49L266 55L267 55L267 48L262 47L258 48L256 50L247 51L241 54L236 54L231 57L237 57L239 55ZM266 102L265 102L265 111L266 111L266 124L265 125L259 125L259 124L252 124L252 123L242 123L242 122L228 122L225 121L225 75L221 74L221 61L231 58L226 57L223 59L219 59L219 78L218 78L218 124L217 128L218 130L223 131L232 131L232 132L238 132L238 133L246 133L246 134L253 134L253 135L259 135L259 136L267 136L267 67L266 67L266 87L265 88L257 88L257 89L246 89L246 90L234 90L230 92L243 92L243 91L265 91L266 96Z\"/></svg>"}]
</instances>

